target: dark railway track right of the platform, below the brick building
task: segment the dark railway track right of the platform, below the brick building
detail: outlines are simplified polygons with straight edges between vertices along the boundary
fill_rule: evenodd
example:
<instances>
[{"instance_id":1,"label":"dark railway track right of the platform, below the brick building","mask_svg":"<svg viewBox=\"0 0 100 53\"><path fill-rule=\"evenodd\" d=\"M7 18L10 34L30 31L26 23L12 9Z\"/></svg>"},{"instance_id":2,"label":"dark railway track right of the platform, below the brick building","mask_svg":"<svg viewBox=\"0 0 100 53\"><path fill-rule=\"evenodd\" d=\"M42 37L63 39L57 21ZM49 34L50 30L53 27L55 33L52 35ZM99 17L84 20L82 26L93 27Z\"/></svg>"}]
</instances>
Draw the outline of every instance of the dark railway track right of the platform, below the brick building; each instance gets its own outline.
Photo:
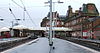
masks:
<instances>
[{"instance_id":1,"label":"dark railway track right of the platform, below the brick building","mask_svg":"<svg viewBox=\"0 0 100 53\"><path fill-rule=\"evenodd\" d=\"M100 51L100 42L96 42L96 41L88 41L88 40L82 40L82 39L66 39L70 42L74 42L83 46L86 46L88 48L92 48L94 50Z\"/></svg>"}]
</instances>

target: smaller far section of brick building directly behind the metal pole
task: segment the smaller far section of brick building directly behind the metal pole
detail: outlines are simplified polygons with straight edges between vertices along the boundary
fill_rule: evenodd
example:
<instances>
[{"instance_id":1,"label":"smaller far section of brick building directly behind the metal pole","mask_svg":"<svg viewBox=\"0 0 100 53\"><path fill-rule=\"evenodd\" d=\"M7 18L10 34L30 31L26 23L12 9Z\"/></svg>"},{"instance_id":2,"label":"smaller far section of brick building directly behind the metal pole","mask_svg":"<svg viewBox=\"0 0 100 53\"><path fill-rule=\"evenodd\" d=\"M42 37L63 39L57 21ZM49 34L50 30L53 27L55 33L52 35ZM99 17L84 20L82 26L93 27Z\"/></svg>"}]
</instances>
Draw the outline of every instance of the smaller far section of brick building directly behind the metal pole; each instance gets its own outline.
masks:
<instances>
[{"instance_id":1,"label":"smaller far section of brick building directly behind the metal pole","mask_svg":"<svg viewBox=\"0 0 100 53\"><path fill-rule=\"evenodd\" d=\"M66 16L59 15L58 12L52 12L52 26L53 27L64 27L64 20ZM50 26L50 13L48 13L47 17L43 18L41 22L41 27L49 27Z\"/></svg>"}]
</instances>

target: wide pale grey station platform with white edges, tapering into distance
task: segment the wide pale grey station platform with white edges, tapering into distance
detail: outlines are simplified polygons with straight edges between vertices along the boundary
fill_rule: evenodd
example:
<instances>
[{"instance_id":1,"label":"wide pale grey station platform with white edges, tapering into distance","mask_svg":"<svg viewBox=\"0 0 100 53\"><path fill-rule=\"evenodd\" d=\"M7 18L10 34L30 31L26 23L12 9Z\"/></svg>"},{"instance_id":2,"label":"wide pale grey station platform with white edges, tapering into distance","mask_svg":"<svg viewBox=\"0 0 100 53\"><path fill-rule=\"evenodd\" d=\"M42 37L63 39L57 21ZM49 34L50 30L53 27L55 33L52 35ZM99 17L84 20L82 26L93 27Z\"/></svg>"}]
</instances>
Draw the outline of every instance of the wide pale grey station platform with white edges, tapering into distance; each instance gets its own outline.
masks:
<instances>
[{"instance_id":1,"label":"wide pale grey station platform with white edges, tapering into distance","mask_svg":"<svg viewBox=\"0 0 100 53\"><path fill-rule=\"evenodd\" d=\"M100 53L99 51L75 44L66 40L54 38L52 53ZM20 46L8 49L1 53L49 53L48 38L37 38Z\"/></svg>"}]
</instances>

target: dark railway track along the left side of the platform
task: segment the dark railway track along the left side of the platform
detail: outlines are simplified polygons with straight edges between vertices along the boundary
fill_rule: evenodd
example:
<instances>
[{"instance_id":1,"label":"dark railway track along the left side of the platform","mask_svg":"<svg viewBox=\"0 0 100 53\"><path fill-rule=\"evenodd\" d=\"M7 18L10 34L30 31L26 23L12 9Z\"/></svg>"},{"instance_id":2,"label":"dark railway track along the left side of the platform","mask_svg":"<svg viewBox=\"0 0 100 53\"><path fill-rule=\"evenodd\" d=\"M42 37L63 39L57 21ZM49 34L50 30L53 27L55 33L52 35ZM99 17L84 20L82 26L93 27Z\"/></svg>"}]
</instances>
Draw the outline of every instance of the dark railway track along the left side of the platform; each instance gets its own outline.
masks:
<instances>
[{"instance_id":1,"label":"dark railway track along the left side of the platform","mask_svg":"<svg viewBox=\"0 0 100 53\"><path fill-rule=\"evenodd\" d=\"M31 40L33 40L33 39L26 38L26 39L21 39L21 40L0 43L0 52L5 51L5 50L10 49L10 48L13 48L13 47L16 47L18 45L24 44L24 43L29 42Z\"/></svg>"}]
</instances>

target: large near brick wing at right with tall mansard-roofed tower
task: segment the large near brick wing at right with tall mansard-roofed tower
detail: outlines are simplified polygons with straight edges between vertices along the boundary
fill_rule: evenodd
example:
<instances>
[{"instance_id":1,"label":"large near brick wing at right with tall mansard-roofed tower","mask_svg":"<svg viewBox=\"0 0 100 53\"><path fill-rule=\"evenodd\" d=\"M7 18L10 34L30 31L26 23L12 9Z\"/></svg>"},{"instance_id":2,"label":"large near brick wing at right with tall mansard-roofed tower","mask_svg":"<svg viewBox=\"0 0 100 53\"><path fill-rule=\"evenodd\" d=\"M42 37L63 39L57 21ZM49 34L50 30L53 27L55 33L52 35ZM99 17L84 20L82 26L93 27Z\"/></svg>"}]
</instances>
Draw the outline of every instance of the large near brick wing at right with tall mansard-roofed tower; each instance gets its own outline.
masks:
<instances>
[{"instance_id":1,"label":"large near brick wing at right with tall mansard-roofed tower","mask_svg":"<svg viewBox=\"0 0 100 53\"><path fill-rule=\"evenodd\" d=\"M64 25L73 29L72 36L98 37L100 32L100 17L95 4L83 4L82 8L76 10L75 13L72 12L72 8L69 6L67 13L68 18L65 20Z\"/></svg>"}]
</instances>

